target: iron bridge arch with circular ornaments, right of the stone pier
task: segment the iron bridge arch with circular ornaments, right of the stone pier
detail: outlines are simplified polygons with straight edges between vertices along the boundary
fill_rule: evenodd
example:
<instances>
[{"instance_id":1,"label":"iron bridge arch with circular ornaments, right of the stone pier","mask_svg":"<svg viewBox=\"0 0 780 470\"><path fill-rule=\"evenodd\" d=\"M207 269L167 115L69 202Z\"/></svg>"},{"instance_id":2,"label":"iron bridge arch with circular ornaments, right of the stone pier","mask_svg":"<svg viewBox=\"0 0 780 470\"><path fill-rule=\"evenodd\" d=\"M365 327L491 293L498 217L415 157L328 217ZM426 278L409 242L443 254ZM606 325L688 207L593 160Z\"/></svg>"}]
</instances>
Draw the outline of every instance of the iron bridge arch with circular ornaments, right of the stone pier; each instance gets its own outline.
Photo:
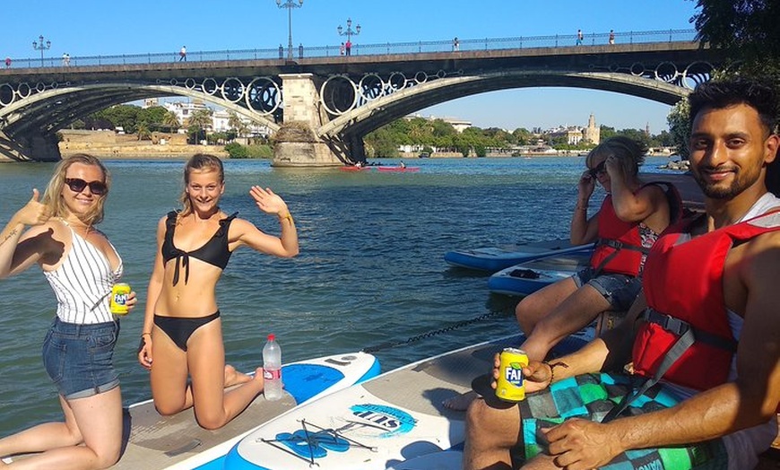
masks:
<instances>
[{"instance_id":1,"label":"iron bridge arch with circular ornaments, right of the stone pier","mask_svg":"<svg viewBox=\"0 0 780 470\"><path fill-rule=\"evenodd\" d=\"M715 66L695 61L680 70L672 62L648 66L591 67L589 71L527 70L514 68L482 74L463 70L333 74L320 86L320 104L331 120L317 135L362 136L394 119L457 98L489 91L563 86L615 91L673 105L688 96L699 83L710 79Z\"/></svg>"}]
</instances>

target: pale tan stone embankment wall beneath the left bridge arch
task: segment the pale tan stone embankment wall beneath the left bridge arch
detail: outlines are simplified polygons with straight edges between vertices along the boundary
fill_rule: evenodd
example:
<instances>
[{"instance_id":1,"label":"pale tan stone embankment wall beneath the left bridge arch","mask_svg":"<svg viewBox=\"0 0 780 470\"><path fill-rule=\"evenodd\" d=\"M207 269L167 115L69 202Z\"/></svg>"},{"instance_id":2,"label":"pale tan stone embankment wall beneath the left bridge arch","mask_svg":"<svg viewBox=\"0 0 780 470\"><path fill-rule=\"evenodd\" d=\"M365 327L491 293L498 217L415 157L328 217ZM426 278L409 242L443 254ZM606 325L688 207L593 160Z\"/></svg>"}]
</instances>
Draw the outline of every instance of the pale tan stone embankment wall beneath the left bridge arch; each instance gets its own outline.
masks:
<instances>
[{"instance_id":1,"label":"pale tan stone embankment wall beneath the left bridge arch","mask_svg":"<svg viewBox=\"0 0 780 470\"><path fill-rule=\"evenodd\" d=\"M222 145L190 145L184 134L152 133L152 140L139 141L136 135L114 131L82 131L64 129L59 143L63 158L74 153L90 153L99 158L189 158L195 153L212 153L228 158Z\"/></svg>"}]
</instances>

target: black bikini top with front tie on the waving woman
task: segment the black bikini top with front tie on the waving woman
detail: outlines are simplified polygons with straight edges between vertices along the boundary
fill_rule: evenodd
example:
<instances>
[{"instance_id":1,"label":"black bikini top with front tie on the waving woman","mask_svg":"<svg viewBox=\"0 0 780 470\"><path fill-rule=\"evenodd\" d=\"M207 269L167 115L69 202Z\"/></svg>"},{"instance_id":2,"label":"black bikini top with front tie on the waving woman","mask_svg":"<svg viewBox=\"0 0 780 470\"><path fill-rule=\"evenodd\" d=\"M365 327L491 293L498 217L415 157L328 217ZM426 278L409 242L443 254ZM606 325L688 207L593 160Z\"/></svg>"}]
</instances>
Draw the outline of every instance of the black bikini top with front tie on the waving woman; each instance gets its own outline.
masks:
<instances>
[{"instance_id":1,"label":"black bikini top with front tie on the waving woman","mask_svg":"<svg viewBox=\"0 0 780 470\"><path fill-rule=\"evenodd\" d=\"M176 231L177 212L168 213L168 219L165 221L165 240L162 242L162 260L168 263L169 260L176 258L176 270L173 272L173 285L178 283L179 265L184 266L184 283L189 278L189 257L200 259L210 265L215 265L220 269L225 269L230 261L232 252L228 249L228 229L230 222L236 218L238 213L232 213L225 219L220 219L220 228L212 235L212 238L204 243L204 246L193 251L184 251L176 248L173 244L173 233ZM181 261L179 262L179 258Z\"/></svg>"}]
</instances>

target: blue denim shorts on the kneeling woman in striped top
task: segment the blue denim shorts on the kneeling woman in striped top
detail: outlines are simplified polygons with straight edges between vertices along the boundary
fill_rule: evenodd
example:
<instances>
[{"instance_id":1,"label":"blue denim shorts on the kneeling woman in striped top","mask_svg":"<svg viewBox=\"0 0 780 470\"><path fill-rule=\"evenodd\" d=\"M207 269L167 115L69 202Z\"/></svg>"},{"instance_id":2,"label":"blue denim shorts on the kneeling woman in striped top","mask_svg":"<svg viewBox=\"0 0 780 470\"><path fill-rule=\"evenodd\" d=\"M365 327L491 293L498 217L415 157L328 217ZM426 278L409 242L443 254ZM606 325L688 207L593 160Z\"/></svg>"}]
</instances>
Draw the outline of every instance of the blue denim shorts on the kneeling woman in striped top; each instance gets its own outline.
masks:
<instances>
[{"instance_id":1,"label":"blue denim shorts on the kneeling woman in striped top","mask_svg":"<svg viewBox=\"0 0 780 470\"><path fill-rule=\"evenodd\" d=\"M71 400L119 386L114 346L119 322L79 325L55 318L43 341L43 365L60 395Z\"/></svg>"}]
</instances>

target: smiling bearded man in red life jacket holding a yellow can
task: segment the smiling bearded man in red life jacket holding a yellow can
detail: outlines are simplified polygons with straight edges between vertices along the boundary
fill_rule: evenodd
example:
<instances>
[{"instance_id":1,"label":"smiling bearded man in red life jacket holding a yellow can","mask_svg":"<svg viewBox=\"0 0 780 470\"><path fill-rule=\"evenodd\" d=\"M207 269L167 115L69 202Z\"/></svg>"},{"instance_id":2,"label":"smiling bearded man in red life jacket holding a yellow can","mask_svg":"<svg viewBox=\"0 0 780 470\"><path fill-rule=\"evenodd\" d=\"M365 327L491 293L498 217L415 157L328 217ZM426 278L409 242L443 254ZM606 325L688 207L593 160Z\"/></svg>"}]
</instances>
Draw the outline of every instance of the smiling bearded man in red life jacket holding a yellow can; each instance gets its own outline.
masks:
<instances>
[{"instance_id":1,"label":"smiling bearded man in red life jacket holding a yellow can","mask_svg":"<svg viewBox=\"0 0 780 470\"><path fill-rule=\"evenodd\" d=\"M464 469L741 470L776 437L776 93L710 82L689 103L706 213L654 244L627 321L577 353L532 361L524 402L491 404L484 392L472 403Z\"/></svg>"}]
</instances>

